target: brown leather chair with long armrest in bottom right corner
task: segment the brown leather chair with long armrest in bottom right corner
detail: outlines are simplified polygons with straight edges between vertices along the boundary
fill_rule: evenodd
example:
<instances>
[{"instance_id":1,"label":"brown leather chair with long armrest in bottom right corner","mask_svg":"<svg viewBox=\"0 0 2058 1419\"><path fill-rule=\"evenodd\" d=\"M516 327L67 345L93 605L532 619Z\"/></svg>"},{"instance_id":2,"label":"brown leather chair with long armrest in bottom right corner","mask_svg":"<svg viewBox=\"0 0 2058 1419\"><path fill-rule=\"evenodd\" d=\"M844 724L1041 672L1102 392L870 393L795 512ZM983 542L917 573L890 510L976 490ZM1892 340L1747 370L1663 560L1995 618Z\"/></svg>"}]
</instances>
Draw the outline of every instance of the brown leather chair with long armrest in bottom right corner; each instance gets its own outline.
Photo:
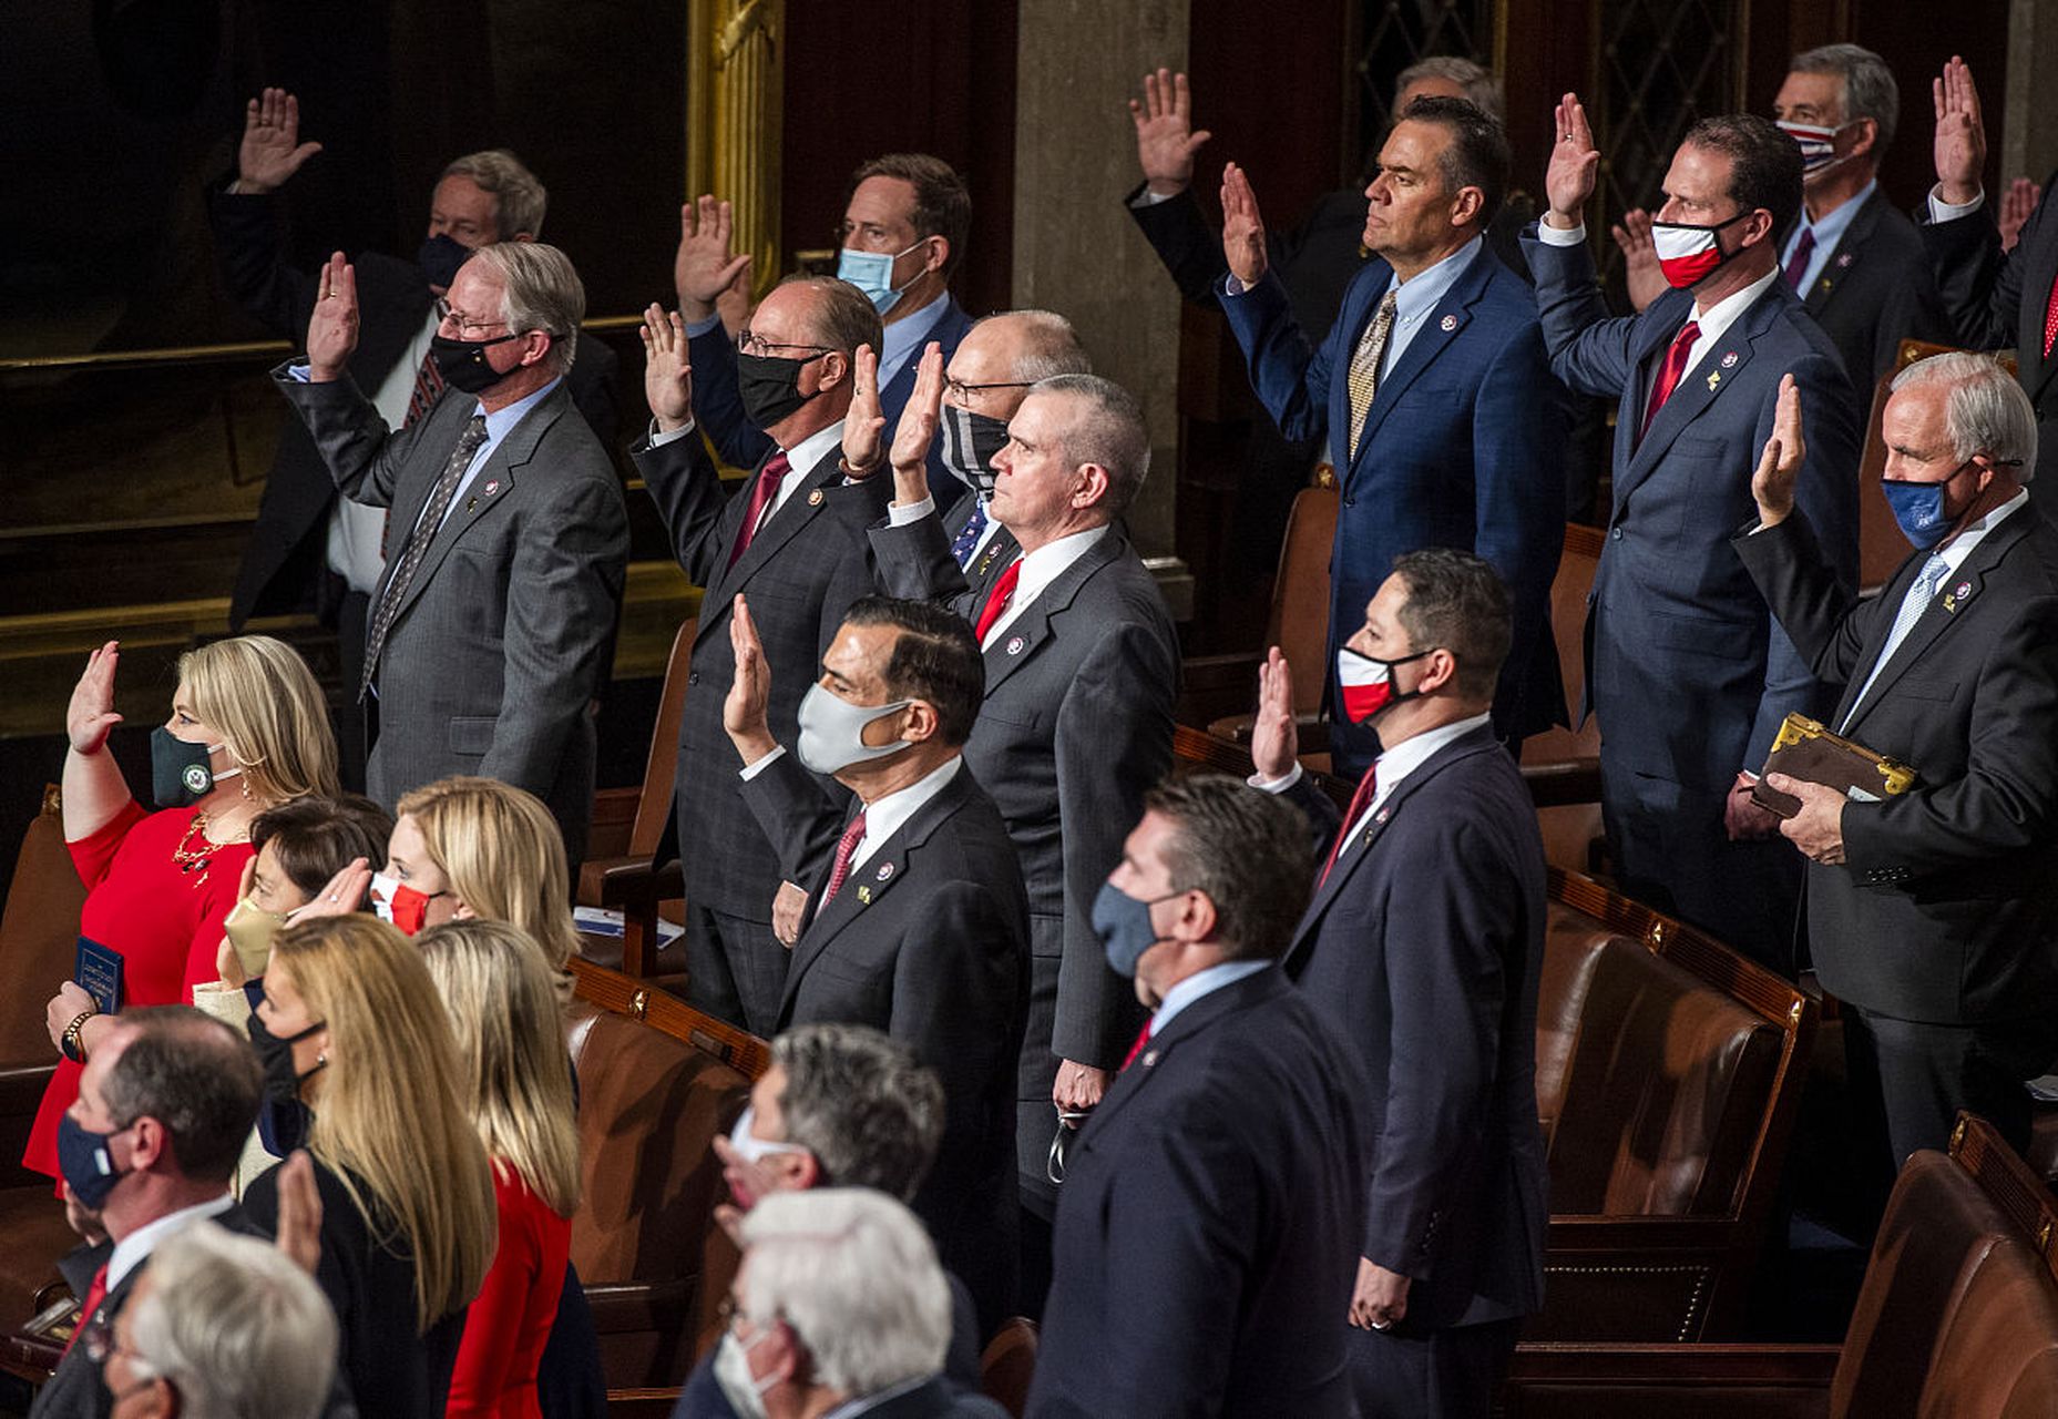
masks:
<instances>
[{"instance_id":1,"label":"brown leather chair with long armrest in bottom right corner","mask_svg":"<svg viewBox=\"0 0 2058 1419\"><path fill-rule=\"evenodd\" d=\"M1984 1120L1902 1168L1838 1345L1517 1349L1506 1419L2058 1415L2058 1209Z\"/></svg>"}]
</instances>

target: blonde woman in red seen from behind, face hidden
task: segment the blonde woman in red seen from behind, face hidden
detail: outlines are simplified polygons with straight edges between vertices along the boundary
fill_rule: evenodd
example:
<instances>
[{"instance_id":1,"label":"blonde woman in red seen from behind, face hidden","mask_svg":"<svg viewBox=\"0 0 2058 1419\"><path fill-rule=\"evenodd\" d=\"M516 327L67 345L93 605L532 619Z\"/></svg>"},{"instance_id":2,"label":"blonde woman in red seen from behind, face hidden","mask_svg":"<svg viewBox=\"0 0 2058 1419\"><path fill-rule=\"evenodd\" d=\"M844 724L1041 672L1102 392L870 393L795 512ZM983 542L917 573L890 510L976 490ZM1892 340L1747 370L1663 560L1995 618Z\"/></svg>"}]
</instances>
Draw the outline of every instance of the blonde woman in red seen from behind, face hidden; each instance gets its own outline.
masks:
<instances>
[{"instance_id":1,"label":"blonde woman in red seen from behind, face hidden","mask_svg":"<svg viewBox=\"0 0 2058 1419\"><path fill-rule=\"evenodd\" d=\"M500 1205L500 1248L465 1318L445 1413L541 1419L537 1363L564 1293L578 1207L556 972L543 947L504 921L430 927L418 945L451 1015L457 1085L494 1164Z\"/></svg>"}]
</instances>

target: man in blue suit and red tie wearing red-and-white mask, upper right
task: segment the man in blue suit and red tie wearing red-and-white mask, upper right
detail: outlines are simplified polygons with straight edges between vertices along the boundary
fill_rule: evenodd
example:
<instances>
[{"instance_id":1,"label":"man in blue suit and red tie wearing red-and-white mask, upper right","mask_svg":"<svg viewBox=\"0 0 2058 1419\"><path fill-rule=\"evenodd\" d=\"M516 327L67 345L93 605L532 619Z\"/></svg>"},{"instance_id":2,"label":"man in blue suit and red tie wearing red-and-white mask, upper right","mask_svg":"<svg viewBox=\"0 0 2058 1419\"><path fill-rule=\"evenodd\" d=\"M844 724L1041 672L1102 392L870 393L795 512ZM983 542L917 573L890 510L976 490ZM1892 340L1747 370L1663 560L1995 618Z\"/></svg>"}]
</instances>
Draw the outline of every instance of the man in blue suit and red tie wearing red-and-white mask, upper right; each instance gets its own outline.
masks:
<instances>
[{"instance_id":1,"label":"man in blue suit and red tie wearing red-and-white mask, upper right","mask_svg":"<svg viewBox=\"0 0 2058 1419\"><path fill-rule=\"evenodd\" d=\"M1599 152L1558 105L1550 212L1523 237L1552 369L1620 400L1613 511L1587 612L1587 713L1601 717L1601 807L1624 890L1793 972L1801 865L1751 774L1817 684L1729 538L1755 509L1780 375L1807 412L1799 498L1846 587L1858 562L1858 406L1836 346L1780 280L1774 235L1801 208L1801 148L1753 115L1694 126L1665 173L1653 239L1673 290L1611 319L1581 208ZM1819 430L1819 432L1817 432Z\"/></svg>"}]
</instances>

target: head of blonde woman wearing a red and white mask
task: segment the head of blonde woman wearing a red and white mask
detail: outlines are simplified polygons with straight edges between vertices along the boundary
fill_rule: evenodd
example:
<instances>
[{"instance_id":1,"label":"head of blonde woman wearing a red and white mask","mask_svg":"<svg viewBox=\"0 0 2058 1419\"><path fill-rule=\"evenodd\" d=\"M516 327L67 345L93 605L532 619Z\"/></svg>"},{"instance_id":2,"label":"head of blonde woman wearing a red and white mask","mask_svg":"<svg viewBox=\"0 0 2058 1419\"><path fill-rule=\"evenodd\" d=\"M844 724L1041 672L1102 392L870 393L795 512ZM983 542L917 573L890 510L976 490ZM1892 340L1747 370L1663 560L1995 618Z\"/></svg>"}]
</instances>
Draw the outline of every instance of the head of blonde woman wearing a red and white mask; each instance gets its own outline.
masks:
<instances>
[{"instance_id":1,"label":"head of blonde woman wearing a red and white mask","mask_svg":"<svg viewBox=\"0 0 2058 1419\"><path fill-rule=\"evenodd\" d=\"M543 947L560 1005L578 951L564 836L543 801L498 778L438 778L399 801L372 908L407 935L484 916Z\"/></svg>"}]
</instances>

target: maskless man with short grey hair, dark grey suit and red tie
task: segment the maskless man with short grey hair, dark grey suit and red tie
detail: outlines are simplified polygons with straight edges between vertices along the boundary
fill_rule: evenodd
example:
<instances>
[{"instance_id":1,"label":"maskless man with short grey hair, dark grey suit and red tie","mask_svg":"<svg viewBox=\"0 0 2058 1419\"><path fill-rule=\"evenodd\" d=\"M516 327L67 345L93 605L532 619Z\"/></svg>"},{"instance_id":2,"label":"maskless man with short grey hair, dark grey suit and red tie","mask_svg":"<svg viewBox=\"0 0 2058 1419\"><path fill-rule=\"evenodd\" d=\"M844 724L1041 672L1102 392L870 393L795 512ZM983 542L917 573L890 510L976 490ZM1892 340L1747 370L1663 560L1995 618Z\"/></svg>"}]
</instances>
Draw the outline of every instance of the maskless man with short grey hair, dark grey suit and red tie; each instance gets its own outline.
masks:
<instances>
[{"instance_id":1,"label":"maskless man with short grey hair, dark grey suit and red tie","mask_svg":"<svg viewBox=\"0 0 2058 1419\"><path fill-rule=\"evenodd\" d=\"M893 439L893 507L873 531L889 595L947 599L973 624L986 700L965 764L1000 807L1029 888L1029 1030L1017 1075L1025 1310L1050 1277L1048 1174L1060 1114L1078 1122L1142 1024L1107 968L1093 898L1171 766L1179 651L1171 616L1120 521L1150 468L1142 408L1095 375L1037 383L994 455L992 519L1015 550L959 568L924 455L943 354L922 360ZM1056 1104L1056 1112L1054 1106Z\"/></svg>"}]
</instances>

